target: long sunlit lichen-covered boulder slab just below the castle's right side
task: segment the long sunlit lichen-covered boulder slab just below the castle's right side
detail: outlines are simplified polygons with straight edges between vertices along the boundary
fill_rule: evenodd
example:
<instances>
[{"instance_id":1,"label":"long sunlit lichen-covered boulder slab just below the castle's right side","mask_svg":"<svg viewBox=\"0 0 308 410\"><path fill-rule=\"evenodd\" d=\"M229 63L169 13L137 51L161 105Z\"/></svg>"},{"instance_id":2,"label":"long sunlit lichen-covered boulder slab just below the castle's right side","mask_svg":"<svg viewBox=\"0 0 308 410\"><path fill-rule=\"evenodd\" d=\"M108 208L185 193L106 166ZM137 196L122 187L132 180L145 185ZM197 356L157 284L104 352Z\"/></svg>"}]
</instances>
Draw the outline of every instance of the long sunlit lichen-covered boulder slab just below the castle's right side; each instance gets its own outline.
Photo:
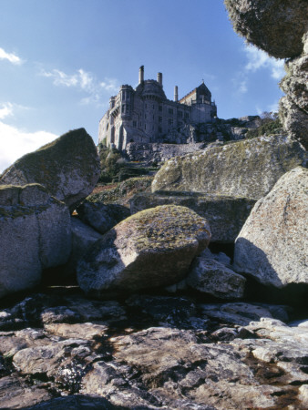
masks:
<instances>
[{"instance_id":1,"label":"long sunlit lichen-covered boulder slab just below the castle's right side","mask_svg":"<svg viewBox=\"0 0 308 410\"><path fill-rule=\"evenodd\" d=\"M285 172L305 161L306 151L292 138L246 139L169 159L156 174L152 191L194 191L259 200Z\"/></svg>"}]
</instances>

